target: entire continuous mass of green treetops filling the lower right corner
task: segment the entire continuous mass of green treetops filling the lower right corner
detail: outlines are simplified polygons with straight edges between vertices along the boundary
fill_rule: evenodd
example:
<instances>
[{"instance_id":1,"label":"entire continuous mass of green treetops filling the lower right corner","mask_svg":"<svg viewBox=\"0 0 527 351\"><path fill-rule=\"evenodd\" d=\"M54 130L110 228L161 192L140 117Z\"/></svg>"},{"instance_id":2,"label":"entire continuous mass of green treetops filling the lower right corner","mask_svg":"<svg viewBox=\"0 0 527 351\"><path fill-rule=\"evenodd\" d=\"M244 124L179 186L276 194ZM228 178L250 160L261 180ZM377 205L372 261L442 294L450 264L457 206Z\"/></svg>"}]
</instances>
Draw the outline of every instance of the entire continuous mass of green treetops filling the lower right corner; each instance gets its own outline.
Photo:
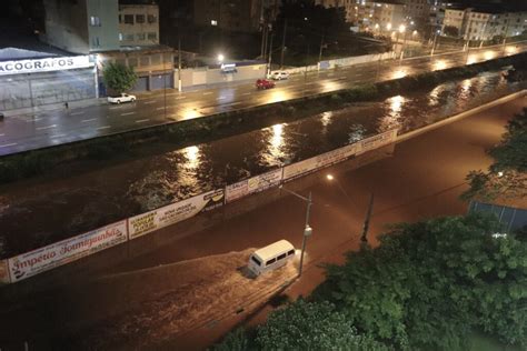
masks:
<instances>
[{"instance_id":1,"label":"entire continuous mass of green treetops filling the lower right corner","mask_svg":"<svg viewBox=\"0 0 527 351\"><path fill-rule=\"evenodd\" d=\"M499 228L480 213L397 224L219 350L467 350L473 332L526 348L527 241Z\"/></svg>"}]
</instances>

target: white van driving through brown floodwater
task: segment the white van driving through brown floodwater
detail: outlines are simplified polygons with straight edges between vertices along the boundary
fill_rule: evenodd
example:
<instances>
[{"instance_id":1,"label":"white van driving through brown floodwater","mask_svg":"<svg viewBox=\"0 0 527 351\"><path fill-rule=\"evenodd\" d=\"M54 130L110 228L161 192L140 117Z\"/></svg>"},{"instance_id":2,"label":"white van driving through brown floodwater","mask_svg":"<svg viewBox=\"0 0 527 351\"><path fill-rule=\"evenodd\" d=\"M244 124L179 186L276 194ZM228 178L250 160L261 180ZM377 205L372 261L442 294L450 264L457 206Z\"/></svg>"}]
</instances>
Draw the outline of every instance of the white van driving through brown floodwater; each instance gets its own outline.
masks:
<instances>
[{"instance_id":1,"label":"white van driving through brown floodwater","mask_svg":"<svg viewBox=\"0 0 527 351\"><path fill-rule=\"evenodd\" d=\"M295 248L287 240L280 240L258 249L249 257L249 270L256 275L282 267L295 257Z\"/></svg>"}]
</instances>

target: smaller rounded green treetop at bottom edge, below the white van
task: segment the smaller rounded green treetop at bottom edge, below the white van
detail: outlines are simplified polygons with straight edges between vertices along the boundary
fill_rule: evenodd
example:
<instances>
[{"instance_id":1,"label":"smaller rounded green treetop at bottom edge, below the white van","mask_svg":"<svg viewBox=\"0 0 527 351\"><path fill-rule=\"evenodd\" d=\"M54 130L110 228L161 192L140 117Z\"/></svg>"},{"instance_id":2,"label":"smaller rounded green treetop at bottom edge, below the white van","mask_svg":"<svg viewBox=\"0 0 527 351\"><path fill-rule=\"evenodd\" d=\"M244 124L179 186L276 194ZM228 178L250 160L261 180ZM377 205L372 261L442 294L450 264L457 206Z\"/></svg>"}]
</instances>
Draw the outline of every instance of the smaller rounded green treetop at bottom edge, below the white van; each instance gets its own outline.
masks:
<instances>
[{"instance_id":1,"label":"smaller rounded green treetop at bottom edge, below the white van","mask_svg":"<svg viewBox=\"0 0 527 351\"><path fill-rule=\"evenodd\" d=\"M261 350L388 350L371 338L357 335L331 303L304 300L271 312L258 328L256 340Z\"/></svg>"}]
</instances>

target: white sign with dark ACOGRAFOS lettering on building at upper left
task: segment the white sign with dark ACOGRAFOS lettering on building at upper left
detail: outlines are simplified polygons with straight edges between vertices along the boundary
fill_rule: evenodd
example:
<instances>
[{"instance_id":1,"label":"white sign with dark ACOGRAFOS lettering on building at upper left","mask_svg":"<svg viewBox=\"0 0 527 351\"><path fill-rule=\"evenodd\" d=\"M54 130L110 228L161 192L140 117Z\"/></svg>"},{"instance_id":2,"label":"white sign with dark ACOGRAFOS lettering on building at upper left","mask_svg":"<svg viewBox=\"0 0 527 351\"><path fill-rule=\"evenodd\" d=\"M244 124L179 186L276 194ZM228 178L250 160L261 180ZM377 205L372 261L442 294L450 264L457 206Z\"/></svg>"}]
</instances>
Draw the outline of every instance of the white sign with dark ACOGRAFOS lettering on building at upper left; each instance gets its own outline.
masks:
<instances>
[{"instance_id":1,"label":"white sign with dark ACOGRAFOS lettering on building at upper left","mask_svg":"<svg viewBox=\"0 0 527 351\"><path fill-rule=\"evenodd\" d=\"M72 70L93 67L87 56L0 62L0 76Z\"/></svg>"}]
</instances>

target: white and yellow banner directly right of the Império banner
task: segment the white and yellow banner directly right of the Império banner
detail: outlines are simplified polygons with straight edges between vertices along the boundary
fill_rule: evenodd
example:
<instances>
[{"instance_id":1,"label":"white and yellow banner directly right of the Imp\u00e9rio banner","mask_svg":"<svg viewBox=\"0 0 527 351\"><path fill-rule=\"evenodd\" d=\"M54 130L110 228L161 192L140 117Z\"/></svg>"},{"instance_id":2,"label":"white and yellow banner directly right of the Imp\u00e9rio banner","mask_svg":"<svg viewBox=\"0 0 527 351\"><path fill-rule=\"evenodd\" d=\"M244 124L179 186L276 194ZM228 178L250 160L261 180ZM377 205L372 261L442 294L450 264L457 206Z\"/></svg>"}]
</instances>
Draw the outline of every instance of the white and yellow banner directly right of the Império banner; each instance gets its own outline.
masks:
<instances>
[{"instance_id":1,"label":"white and yellow banner directly right of the Imp\u00e9rio banner","mask_svg":"<svg viewBox=\"0 0 527 351\"><path fill-rule=\"evenodd\" d=\"M136 239L223 204L223 189L182 200L128 219L129 238Z\"/></svg>"}]
</instances>

